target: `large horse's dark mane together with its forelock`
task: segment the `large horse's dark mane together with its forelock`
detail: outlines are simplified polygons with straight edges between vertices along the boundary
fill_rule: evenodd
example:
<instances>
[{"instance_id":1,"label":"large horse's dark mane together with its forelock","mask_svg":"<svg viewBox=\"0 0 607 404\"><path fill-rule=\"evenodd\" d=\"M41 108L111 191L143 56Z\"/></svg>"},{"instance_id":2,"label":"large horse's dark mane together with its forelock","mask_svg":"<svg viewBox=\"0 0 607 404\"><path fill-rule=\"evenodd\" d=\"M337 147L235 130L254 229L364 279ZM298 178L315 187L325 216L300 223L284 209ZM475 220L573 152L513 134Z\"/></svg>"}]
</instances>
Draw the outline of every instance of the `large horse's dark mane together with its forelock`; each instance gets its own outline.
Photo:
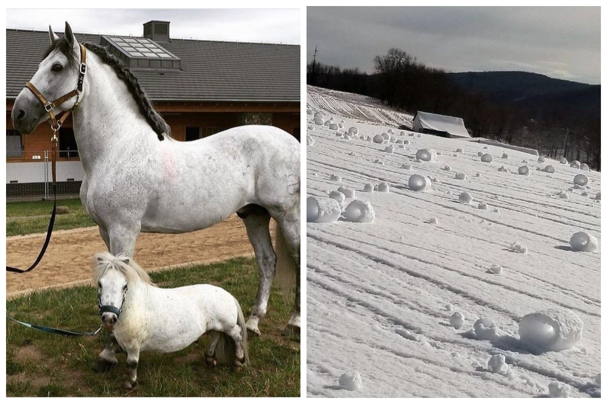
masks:
<instances>
[{"instance_id":1,"label":"large horse's dark mane together with its forelock","mask_svg":"<svg viewBox=\"0 0 607 404\"><path fill-rule=\"evenodd\" d=\"M95 53L95 55L99 56L101 61L105 64L109 65L119 79L121 79L124 84L126 84L126 88L128 88L129 93L132 94L135 102L137 102L137 106L139 107L139 111L148 121L148 124L152 127L152 130L158 135L158 139L160 141L164 140L164 136L171 136L171 127L162 119L160 114L154 110L154 105L152 105L152 101L148 98L143 88L137 81L137 78L132 73L131 69L128 67L124 67L120 59L116 56L110 54L107 49L101 45L93 44L91 42L86 42L83 44L88 50ZM75 61L75 52L72 46L69 44L66 38L60 38L54 41L50 47L44 53L44 57L42 60L46 59L50 53L58 49L67 56L67 59L70 61L70 64L73 64Z\"/></svg>"}]
</instances>

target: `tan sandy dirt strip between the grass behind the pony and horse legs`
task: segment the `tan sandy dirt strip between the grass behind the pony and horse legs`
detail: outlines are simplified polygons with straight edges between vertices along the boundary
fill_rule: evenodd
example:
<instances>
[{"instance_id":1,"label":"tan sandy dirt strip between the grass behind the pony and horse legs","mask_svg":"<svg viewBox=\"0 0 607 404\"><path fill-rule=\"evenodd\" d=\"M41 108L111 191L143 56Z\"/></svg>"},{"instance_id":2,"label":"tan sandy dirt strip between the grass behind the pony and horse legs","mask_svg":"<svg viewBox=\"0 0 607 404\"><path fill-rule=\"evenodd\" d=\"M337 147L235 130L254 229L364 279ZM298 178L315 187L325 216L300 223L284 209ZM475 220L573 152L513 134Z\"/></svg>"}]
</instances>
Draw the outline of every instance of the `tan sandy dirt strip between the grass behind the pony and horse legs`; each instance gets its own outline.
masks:
<instances>
[{"instance_id":1,"label":"tan sandy dirt strip between the grass behind the pony and horse legs","mask_svg":"<svg viewBox=\"0 0 607 404\"><path fill-rule=\"evenodd\" d=\"M22 269L32 265L45 236L7 237L7 265ZM53 232L38 267L25 274L6 273L7 299L38 288L61 288L90 282L91 259L100 251L106 251L106 245L97 227ZM148 271L243 255L253 256L253 247L246 237L245 225L236 215L193 233L141 233L135 245L135 260Z\"/></svg>"}]
</instances>

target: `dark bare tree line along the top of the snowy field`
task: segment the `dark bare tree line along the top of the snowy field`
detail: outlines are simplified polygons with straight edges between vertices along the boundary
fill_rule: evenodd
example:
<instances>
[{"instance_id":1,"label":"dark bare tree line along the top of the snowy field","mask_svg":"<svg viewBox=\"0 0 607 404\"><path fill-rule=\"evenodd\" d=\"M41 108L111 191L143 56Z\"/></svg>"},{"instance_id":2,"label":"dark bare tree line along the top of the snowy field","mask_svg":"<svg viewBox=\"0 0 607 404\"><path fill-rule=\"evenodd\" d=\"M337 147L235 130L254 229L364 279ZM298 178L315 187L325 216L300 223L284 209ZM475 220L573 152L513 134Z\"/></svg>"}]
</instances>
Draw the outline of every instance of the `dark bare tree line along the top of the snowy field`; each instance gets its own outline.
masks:
<instances>
[{"instance_id":1,"label":"dark bare tree line along the top of the snowy field","mask_svg":"<svg viewBox=\"0 0 607 404\"><path fill-rule=\"evenodd\" d=\"M428 67L399 48L376 55L373 65L373 73L367 74L358 67L310 63L307 83L376 98L412 115L425 111L458 116L473 137L535 148L543 156L565 156L600 170L600 115L577 119L566 103L542 109L493 101L459 87L446 70Z\"/></svg>"}]
</instances>

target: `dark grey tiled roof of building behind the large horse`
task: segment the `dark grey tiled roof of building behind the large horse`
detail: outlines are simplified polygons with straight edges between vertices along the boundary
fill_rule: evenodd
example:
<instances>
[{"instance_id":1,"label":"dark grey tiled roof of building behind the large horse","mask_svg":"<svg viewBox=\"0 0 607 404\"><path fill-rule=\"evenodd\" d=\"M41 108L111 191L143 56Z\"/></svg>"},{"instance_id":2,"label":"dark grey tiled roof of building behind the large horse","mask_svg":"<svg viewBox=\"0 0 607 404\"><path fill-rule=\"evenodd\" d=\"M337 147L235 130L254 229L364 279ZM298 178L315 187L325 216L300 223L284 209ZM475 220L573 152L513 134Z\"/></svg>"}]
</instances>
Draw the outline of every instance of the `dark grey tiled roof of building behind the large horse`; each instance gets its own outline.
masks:
<instances>
[{"instance_id":1,"label":"dark grey tiled roof of building behind the large horse","mask_svg":"<svg viewBox=\"0 0 607 404\"><path fill-rule=\"evenodd\" d=\"M101 42L101 35L75 36ZM48 46L46 31L6 30L7 98L32 78ZM299 102L299 45L171 39L161 46L181 59L180 70L133 69L154 101Z\"/></svg>"}]
</instances>

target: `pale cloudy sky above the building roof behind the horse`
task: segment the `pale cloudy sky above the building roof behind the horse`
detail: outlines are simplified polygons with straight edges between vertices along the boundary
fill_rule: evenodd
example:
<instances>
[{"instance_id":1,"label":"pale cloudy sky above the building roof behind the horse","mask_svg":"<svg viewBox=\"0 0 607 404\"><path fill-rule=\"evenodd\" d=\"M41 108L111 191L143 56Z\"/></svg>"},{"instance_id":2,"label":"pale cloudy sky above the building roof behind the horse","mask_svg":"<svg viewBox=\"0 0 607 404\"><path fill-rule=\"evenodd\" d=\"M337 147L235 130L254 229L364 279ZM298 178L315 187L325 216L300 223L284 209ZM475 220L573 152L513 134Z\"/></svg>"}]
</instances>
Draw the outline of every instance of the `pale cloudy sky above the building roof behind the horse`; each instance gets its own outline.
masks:
<instances>
[{"instance_id":1,"label":"pale cloudy sky above the building roof behind the horse","mask_svg":"<svg viewBox=\"0 0 607 404\"><path fill-rule=\"evenodd\" d=\"M6 10L7 28L60 32L67 21L74 32L142 36L152 19L170 21L172 38L301 44L298 8Z\"/></svg>"}]
</instances>

